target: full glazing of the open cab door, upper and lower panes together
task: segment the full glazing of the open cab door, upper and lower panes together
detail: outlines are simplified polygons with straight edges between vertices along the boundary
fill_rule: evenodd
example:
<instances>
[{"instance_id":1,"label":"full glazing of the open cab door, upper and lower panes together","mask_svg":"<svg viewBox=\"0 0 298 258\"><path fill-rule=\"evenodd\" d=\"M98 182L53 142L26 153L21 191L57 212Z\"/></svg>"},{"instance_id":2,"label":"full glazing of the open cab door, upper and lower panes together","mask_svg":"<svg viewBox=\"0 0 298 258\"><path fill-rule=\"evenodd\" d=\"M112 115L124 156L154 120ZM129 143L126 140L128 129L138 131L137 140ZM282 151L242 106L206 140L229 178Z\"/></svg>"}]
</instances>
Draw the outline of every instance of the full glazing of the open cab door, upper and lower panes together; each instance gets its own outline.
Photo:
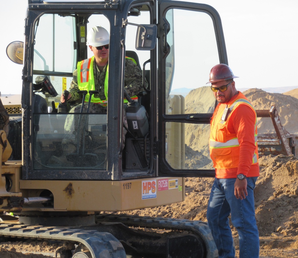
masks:
<instances>
[{"instance_id":1,"label":"full glazing of the open cab door, upper and lower panes together","mask_svg":"<svg viewBox=\"0 0 298 258\"><path fill-rule=\"evenodd\" d=\"M175 122L165 122L164 159L178 172L211 170L209 119L215 97L206 83L211 68L220 62L214 23L199 10L169 9L165 18L164 114L165 121L175 116Z\"/></svg>"}]
</instances>

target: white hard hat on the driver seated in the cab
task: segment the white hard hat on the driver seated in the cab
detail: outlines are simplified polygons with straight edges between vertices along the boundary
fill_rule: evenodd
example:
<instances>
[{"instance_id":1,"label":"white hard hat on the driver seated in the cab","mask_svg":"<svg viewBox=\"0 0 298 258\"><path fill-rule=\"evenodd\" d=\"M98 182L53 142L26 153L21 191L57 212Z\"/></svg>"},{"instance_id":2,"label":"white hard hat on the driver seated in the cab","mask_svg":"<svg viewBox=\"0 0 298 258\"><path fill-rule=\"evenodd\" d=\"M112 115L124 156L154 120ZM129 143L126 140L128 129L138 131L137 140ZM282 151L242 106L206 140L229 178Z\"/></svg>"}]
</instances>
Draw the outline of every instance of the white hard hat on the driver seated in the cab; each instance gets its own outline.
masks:
<instances>
[{"instance_id":1,"label":"white hard hat on the driver seated in the cab","mask_svg":"<svg viewBox=\"0 0 298 258\"><path fill-rule=\"evenodd\" d=\"M87 46L100 47L110 43L110 34L101 26L94 26L87 34Z\"/></svg>"}]
</instances>

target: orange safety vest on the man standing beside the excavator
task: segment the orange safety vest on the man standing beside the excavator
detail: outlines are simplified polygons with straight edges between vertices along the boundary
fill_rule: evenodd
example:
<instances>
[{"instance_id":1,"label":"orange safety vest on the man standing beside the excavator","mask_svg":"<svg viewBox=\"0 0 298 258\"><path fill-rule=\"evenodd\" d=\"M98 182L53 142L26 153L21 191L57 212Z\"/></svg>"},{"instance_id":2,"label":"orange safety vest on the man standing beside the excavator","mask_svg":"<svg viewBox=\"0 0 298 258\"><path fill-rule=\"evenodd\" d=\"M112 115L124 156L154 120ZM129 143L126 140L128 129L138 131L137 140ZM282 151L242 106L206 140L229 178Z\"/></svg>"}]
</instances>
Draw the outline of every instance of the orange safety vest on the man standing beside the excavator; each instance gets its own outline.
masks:
<instances>
[{"instance_id":1,"label":"orange safety vest on the man standing beside the excavator","mask_svg":"<svg viewBox=\"0 0 298 258\"><path fill-rule=\"evenodd\" d=\"M217 169L230 169L230 168L237 168L239 166L240 146L239 146L238 138L236 134L231 134L227 130L229 118L231 117L231 114L233 113L233 111L235 111L235 109L239 105L249 106L256 114L254 107L249 102L249 100L241 92L239 92L235 101L228 105L228 108L230 108L230 111L226 121L219 120L220 119L219 116L221 117L222 113L217 114L216 117L212 117L211 119L209 150L210 150L210 157L213 161L213 166ZM215 108L214 114L216 114L218 107L219 105ZM256 149L252 158L252 164L258 162L257 114L256 114L254 127L255 127L254 141L255 141Z\"/></svg>"}]
</instances>

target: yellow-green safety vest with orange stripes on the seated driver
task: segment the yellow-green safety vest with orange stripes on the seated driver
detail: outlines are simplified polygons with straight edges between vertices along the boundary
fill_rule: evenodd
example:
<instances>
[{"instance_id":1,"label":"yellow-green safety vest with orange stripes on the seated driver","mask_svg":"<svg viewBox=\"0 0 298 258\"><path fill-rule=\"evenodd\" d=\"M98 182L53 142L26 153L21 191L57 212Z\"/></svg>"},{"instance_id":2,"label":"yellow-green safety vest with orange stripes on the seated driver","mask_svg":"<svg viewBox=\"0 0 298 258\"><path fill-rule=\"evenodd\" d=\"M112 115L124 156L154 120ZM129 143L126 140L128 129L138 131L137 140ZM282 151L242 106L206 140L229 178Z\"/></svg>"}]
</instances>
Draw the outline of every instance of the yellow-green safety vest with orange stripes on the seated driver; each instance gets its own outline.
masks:
<instances>
[{"instance_id":1,"label":"yellow-green safety vest with orange stripes on the seated driver","mask_svg":"<svg viewBox=\"0 0 298 258\"><path fill-rule=\"evenodd\" d=\"M93 74L93 62L94 56L90 57L89 59L85 59L77 63L77 84L80 90L87 90L88 93L85 97L85 102L89 101L89 90L95 90L95 81L94 81L94 74ZM136 64L136 61L133 58L125 56L127 59L131 59ZM107 106L108 104L108 68L106 67L106 74L105 74L105 100L101 100L99 97L91 97L91 103L97 103L102 106ZM137 99L137 96L131 97L131 99ZM124 103L128 101L124 99Z\"/></svg>"}]
</instances>

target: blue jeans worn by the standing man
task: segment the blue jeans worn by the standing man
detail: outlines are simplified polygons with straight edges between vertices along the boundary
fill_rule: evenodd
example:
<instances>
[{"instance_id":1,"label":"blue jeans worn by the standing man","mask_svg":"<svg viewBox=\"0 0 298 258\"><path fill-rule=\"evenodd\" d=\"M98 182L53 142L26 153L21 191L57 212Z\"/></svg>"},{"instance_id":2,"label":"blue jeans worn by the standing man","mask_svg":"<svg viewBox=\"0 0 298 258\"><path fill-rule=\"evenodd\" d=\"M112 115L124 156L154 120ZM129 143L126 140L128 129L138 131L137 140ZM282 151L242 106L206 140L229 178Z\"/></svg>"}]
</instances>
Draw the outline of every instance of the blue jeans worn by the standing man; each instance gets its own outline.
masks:
<instances>
[{"instance_id":1,"label":"blue jeans worn by the standing man","mask_svg":"<svg viewBox=\"0 0 298 258\"><path fill-rule=\"evenodd\" d=\"M215 178L207 208L207 220L218 249L219 258L234 258L235 248L229 226L231 213L232 224L238 231L240 258L259 257L260 242L254 212L254 188L257 177L247 177L245 199L236 199L234 183L236 178Z\"/></svg>"}]
</instances>

